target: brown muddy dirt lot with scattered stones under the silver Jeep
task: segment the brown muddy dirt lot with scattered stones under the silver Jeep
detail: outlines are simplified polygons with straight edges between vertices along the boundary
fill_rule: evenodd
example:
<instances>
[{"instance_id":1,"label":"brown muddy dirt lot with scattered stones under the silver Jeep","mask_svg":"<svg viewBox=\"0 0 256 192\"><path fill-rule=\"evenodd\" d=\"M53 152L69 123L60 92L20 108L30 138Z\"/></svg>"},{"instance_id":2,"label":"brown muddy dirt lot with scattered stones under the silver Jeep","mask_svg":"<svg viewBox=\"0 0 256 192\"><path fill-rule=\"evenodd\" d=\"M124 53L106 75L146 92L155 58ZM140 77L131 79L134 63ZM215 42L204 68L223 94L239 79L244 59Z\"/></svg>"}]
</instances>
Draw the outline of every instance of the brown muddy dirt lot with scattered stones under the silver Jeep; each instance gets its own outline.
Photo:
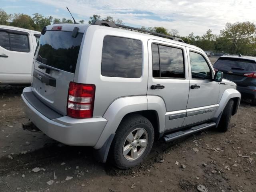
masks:
<instances>
[{"instance_id":1,"label":"brown muddy dirt lot with scattered stones under the silver Jeep","mask_svg":"<svg viewBox=\"0 0 256 192\"><path fill-rule=\"evenodd\" d=\"M20 98L23 88L0 86L1 192L196 192L198 184L208 192L255 191L256 107L247 101L232 117L228 132L208 130L168 144L156 141L144 163L118 170L96 162L91 148L65 146L42 132L22 130L28 120ZM36 167L40 171L32 172Z\"/></svg>"}]
</instances>

